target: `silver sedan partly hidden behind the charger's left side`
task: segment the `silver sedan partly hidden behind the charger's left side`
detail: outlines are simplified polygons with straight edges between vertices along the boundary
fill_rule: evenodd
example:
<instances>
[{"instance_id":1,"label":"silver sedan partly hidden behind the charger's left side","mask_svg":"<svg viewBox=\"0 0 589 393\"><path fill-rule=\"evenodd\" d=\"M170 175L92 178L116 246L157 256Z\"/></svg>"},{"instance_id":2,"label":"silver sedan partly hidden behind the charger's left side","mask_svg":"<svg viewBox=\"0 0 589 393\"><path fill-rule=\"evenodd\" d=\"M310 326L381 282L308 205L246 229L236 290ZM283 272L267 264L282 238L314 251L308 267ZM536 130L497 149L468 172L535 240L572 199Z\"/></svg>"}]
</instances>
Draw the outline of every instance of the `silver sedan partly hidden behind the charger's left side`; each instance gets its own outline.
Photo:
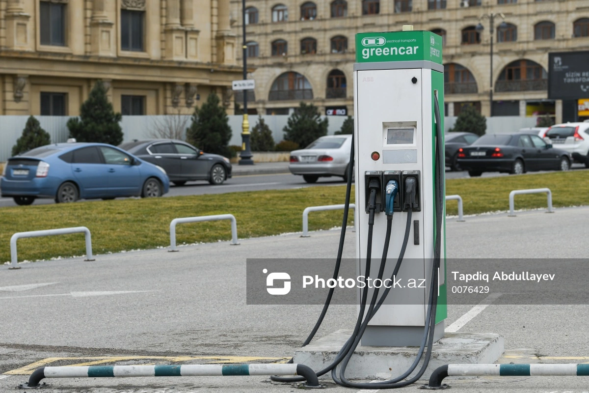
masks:
<instances>
[{"instance_id":1,"label":"silver sedan partly hidden behind the charger's left side","mask_svg":"<svg viewBox=\"0 0 589 393\"><path fill-rule=\"evenodd\" d=\"M351 135L320 137L306 148L290 152L289 170L303 175L307 183L329 176L342 176L347 181L351 146Z\"/></svg>"}]
</instances>

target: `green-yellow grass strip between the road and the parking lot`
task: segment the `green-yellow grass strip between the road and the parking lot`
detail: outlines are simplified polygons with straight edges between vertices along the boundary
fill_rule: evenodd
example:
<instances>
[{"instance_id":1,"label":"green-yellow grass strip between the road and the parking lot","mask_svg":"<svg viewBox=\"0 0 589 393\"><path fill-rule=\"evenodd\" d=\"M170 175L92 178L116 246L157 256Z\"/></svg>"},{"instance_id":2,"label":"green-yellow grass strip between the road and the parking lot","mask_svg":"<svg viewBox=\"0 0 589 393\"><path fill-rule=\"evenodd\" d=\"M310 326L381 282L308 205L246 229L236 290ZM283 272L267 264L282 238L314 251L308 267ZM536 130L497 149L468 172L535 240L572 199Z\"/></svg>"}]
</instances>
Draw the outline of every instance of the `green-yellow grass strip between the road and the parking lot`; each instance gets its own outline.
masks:
<instances>
[{"instance_id":1,"label":"green-yellow grass strip between the road and the parking lot","mask_svg":"<svg viewBox=\"0 0 589 393\"><path fill-rule=\"evenodd\" d=\"M555 207L589 204L589 171L575 170L446 181L446 194L459 194L464 214L508 210L509 191L549 187ZM307 206L343 203L345 186L308 187L295 190L252 191L157 199L124 199L72 204L4 207L0 210L0 263L10 260L10 237L15 232L87 226L92 233L92 252L149 249L170 245L170 221L176 217L231 213L237 219L240 238L276 235L302 230ZM353 198L353 193L352 193ZM353 201L352 201L353 202ZM515 197L516 209L545 207L545 194ZM448 214L457 214L456 202L448 202ZM309 229L329 229L342 224L342 210L313 212ZM348 224L352 224L350 217ZM227 221L180 224L178 245L183 242L230 240ZM83 255L84 235L21 239L19 260Z\"/></svg>"}]
</instances>

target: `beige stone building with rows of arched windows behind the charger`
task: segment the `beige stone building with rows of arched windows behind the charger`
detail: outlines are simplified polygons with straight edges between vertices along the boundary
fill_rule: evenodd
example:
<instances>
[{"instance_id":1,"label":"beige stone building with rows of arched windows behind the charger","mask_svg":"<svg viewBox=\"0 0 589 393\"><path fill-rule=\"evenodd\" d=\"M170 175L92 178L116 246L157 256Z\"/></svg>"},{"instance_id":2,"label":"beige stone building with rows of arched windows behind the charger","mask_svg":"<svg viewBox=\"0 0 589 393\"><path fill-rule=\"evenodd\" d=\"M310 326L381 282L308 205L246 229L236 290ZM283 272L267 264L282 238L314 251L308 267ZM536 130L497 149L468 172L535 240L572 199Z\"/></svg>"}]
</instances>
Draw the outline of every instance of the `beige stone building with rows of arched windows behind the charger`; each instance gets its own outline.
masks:
<instances>
[{"instance_id":1,"label":"beige stone building with rows of arched windows behind the charger","mask_svg":"<svg viewBox=\"0 0 589 393\"><path fill-rule=\"evenodd\" d=\"M241 41L241 1L231 4ZM484 115L560 121L576 105L547 99L548 52L589 49L587 0L246 0L248 62L256 67L250 107L283 114L307 101L322 114L353 114L355 34L402 25L444 37L446 115L474 105Z\"/></svg>"}]
</instances>

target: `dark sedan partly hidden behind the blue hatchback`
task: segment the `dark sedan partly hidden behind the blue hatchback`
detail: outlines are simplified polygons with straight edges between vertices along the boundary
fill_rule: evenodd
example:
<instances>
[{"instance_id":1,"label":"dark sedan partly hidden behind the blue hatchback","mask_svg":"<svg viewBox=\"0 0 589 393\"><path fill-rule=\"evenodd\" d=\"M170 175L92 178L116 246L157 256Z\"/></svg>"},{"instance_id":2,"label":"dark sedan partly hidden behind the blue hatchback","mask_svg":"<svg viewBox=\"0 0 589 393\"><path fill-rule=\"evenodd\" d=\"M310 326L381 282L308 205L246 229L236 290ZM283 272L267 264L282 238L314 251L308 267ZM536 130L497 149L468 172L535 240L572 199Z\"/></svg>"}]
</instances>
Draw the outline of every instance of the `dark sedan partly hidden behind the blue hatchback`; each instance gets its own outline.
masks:
<instances>
[{"instance_id":1,"label":"dark sedan partly hidden behind the blue hatchback","mask_svg":"<svg viewBox=\"0 0 589 393\"><path fill-rule=\"evenodd\" d=\"M170 181L183 186L187 181L208 180L217 185L231 177L229 159L202 150L180 140L134 140L119 145L123 150L166 170Z\"/></svg>"}]
</instances>

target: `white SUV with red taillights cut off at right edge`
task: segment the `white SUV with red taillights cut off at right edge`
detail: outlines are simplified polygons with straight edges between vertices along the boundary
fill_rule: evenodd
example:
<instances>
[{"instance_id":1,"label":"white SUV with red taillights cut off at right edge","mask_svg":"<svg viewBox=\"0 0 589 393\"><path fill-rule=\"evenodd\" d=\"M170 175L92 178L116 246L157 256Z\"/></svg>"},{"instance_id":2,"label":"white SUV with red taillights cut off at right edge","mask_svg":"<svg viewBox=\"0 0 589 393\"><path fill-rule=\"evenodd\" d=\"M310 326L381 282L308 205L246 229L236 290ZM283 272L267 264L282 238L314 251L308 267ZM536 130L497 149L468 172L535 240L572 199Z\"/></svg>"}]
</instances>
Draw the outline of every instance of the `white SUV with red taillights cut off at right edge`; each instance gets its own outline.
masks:
<instances>
[{"instance_id":1,"label":"white SUV with red taillights cut off at right edge","mask_svg":"<svg viewBox=\"0 0 589 393\"><path fill-rule=\"evenodd\" d=\"M568 151L573 160L589 168L589 122L555 124L548 128L544 140Z\"/></svg>"}]
</instances>

